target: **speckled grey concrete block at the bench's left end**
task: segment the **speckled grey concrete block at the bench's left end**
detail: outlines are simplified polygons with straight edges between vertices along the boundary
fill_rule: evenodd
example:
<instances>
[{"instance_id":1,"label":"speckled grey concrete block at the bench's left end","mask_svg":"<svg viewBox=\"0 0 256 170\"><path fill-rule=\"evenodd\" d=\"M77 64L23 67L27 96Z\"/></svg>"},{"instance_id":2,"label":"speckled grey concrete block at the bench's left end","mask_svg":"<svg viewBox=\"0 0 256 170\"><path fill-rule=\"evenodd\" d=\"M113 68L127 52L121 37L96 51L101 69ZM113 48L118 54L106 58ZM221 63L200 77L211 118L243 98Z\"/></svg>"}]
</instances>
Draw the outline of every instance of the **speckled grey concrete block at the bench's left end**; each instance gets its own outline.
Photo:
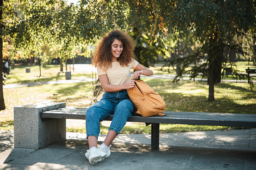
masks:
<instances>
[{"instance_id":1,"label":"speckled grey concrete block at the bench's left end","mask_svg":"<svg viewBox=\"0 0 256 170\"><path fill-rule=\"evenodd\" d=\"M39 149L66 139L66 119L42 121L44 111L66 107L66 103L42 102L14 107L14 147Z\"/></svg>"}]
</instances>

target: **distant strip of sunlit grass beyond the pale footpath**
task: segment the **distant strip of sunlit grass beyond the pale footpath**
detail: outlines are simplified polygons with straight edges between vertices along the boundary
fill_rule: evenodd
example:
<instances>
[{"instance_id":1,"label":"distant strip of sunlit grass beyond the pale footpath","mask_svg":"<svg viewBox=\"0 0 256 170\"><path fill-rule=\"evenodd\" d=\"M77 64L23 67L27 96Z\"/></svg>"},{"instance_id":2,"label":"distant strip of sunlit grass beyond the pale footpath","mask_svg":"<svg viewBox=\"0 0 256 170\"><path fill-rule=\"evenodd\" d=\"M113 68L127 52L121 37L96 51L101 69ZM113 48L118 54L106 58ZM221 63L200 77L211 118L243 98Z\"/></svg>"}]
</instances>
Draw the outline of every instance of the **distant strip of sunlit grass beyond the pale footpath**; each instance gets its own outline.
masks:
<instances>
[{"instance_id":1,"label":"distant strip of sunlit grass beyond the pale footpath","mask_svg":"<svg viewBox=\"0 0 256 170\"><path fill-rule=\"evenodd\" d=\"M255 68L255 66L252 66L252 62L237 62L235 63L236 67L235 69L239 70L239 72L245 73L245 69L248 67ZM87 64L85 66L91 67L90 64ZM26 73L26 67L30 67L30 73ZM73 65L68 65L68 71L73 70ZM170 68L170 72L168 73L168 68L163 67L161 69L161 65L156 64L154 67L150 67L154 71L154 74L158 75L169 75L169 74L176 74L175 70L173 68ZM66 70L66 67L63 67L64 72ZM187 68L189 70L189 68ZM11 74L7 75L8 81L6 81L6 84L12 84L12 83L29 83L29 82L40 82L40 81L54 81L54 80L65 80L65 73L60 73L60 66L59 65L46 65L45 67L41 66L41 77L39 77L40 71L38 65L17 65L12 66ZM87 69L87 71L76 71L72 72L72 79L79 79L81 77L92 77L92 72ZM95 75L94 75L95 77ZM197 76L198 78L201 78L201 76ZM222 77L223 79L236 79L235 76L232 75L224 75ZM247 79L244 77L244 79Z\"/></svg>"}]
</instances>

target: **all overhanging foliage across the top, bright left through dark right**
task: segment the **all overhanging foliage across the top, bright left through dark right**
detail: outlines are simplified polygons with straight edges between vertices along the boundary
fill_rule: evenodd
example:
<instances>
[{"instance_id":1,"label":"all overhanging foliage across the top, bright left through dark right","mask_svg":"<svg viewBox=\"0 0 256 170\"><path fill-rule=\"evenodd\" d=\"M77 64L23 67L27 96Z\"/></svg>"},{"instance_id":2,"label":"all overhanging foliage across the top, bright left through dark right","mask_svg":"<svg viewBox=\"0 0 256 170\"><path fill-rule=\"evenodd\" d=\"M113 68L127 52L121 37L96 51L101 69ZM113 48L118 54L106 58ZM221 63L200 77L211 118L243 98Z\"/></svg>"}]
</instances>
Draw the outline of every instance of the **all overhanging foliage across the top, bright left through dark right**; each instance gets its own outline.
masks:
<instances>
[{"instance_id":1,"label":"all overhanging foliage across the top, bright left through dark right","mask_svg":"<svg viewBox=\"0 0 256 170\"><path fill-rule=\"evenodd\" d=\"M179 35L193 31L204 42L216 35L230 39L255 23L251 1L81 1L68 6L65 1L47 0L21 1L19 7L26 19L9 27L17 49L25 52L44 44L59 57L72 58L76 49L88 49L117 28L130 32L138 47L137 59L145 65L159 54L168 56L162 44L166 31Z\"/></svg>"}]
</instances>

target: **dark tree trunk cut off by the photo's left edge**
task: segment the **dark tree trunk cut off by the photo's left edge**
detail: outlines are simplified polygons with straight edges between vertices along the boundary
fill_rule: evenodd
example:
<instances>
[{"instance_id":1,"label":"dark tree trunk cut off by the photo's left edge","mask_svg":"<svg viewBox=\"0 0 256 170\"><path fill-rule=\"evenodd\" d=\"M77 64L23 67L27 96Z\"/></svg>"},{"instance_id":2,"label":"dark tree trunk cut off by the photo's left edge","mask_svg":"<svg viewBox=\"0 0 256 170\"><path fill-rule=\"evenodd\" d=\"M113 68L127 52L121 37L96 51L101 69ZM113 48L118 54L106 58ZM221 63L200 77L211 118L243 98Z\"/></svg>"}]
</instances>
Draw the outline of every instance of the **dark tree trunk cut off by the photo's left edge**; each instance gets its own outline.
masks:
<instances>
[{"instance_id":1,"label":"dark tree trunk cut off by the photo's left edge","mask_svg":"<svg viewBox=\"0 0 256 170\"><path fill-rule=\"evenodd\" d=\"M0 0L0 22L2 21L3 17L3 1ZM3 23L0 23L0 29L3 29ZM5 110L5 100L4 100L4 91L3 91L3 39L2 39L2 32L0 33L0 76L1 76L1 82L0 82L0 110Z\"/></svg>"}]
</instances>

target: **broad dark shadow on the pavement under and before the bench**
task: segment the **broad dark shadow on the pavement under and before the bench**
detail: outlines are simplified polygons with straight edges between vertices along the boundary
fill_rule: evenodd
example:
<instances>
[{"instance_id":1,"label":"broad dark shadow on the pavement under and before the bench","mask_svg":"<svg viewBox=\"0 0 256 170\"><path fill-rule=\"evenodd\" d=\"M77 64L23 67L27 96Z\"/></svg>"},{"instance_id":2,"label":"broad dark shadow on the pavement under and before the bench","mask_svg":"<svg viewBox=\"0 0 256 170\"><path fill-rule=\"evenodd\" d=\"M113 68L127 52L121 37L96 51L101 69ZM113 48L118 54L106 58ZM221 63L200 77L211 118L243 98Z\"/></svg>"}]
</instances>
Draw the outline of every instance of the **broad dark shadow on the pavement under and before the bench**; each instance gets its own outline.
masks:
<instances>
[{"instance_id":1,"label":"broad dark shadow on the pavement under and before the bench","mask_svg":"<svg viewBox=\"0 0 256 170\"><path fill-rule=\"evenodd\" d=\"M115 142L111 155L92 166L87 140L67 139L45 148L14 148L1 169L253 169L255 151Z\"/></svg>"}]
</instances>

